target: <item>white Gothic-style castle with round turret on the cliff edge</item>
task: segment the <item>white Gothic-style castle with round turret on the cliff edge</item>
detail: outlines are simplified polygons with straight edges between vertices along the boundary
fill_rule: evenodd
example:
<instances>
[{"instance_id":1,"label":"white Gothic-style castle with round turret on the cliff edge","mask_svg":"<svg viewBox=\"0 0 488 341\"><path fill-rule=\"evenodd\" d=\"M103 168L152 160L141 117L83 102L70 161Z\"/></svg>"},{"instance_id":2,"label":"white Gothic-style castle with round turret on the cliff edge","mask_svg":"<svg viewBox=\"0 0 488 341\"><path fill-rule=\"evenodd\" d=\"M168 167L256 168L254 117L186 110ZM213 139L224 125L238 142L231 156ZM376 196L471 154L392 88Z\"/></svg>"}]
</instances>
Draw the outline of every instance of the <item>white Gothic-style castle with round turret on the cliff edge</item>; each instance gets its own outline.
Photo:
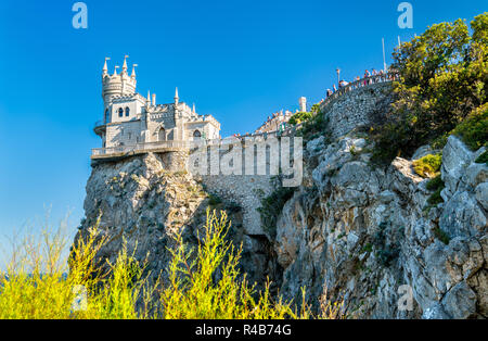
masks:
<instances>
[{"instance_id":1,"label":"white Gothic-style castle with round turret on the cliff edge","mask_svg":"<svg viewBox=\"0 0 488 341\"><path fill-rule=\"evenodd\" d=\"M147 98L136 92L136 66L127 73L127 55L121 73L115 66L108 74L107 58L102 72L103 121L94 131L102 138L103 148L111 149L141 143L165 143L165 141L191 141L219 139L220 123L211 115L198 115L195 105L180 102L178 88L175 102L156 104L156 94Z\"/></svg>"}]
</instances>

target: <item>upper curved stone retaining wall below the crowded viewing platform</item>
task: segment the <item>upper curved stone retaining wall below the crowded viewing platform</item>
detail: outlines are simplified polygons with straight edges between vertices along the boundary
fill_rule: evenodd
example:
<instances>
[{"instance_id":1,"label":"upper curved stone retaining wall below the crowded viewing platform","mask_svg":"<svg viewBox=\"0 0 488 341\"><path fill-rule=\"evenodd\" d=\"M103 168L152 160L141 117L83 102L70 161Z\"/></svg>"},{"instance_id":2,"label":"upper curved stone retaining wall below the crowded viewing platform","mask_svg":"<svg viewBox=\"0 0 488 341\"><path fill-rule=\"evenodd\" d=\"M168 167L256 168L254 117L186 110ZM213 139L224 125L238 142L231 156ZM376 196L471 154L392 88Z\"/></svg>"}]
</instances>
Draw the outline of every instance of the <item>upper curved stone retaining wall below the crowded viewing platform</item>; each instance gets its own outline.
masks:
<instances>
[{"instance_id":1,"label":"upper curved stone retaining wall below the crowded viewing platform","mask_svg":"<svg viewBox=\"0 0 488 341\"><path fill-rule=\"evenodd\" d=\"M337 139L371 124L377 113L386 113L391 102L390 91L391 83L372 84L322 104L320 110L329 119L332 138Z\"/></svg>"}]
</instances>

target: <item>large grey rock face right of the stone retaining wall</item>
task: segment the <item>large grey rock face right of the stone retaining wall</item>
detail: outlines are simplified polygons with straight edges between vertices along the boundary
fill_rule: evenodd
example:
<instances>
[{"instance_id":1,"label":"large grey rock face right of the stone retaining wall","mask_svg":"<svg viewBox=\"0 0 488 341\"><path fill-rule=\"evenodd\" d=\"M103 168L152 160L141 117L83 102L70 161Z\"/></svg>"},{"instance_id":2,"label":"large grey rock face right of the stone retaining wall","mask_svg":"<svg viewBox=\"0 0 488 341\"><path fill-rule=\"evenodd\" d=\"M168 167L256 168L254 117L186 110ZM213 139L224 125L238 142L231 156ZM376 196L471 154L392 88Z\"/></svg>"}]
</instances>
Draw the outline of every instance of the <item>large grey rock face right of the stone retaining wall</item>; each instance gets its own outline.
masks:
<instances>
[{"instance_id":1,"label":"large grey rock face right of the stone retaining wall","mask_svg":"<svg viewBox=\"0 0 488 341\"><path fill-rule=\"evenodd\" d=\"M411 161L381 169L363 139L318 143L308 143L304 186L278 220L281 292L297 298L305 286L313 302L326 285L357 317L487 317L488 167L474 163L484 149L449 138L445 202L427 207L428 180Z\"/></svg>"}]
</instances>

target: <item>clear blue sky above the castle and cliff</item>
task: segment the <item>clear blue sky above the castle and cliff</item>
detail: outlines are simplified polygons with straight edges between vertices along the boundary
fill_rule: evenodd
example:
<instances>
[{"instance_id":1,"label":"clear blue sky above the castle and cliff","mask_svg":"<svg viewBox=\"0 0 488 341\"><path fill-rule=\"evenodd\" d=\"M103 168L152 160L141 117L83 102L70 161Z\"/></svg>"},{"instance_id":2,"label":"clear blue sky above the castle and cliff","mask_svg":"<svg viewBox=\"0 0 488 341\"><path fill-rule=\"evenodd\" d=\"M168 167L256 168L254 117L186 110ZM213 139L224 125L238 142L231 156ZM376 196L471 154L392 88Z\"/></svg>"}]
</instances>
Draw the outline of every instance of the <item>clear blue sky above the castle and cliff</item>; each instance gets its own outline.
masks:
<instances>
[{"instance_id":1,"label":"clear blue sky above the castle and cliff","mask_svg":"<svg viewBox=\"0 0 488 341\"><path fill-rule=\"evenodd\" d=\"M103 117L100 74L124 54L138 90L196 103L222 135L253 131L266 116L317 102L336 79L381 68L433 23L471 21L486 0L412 0L413 29L397 25L399 0L87 0L88 29L74 29L75 1L0 2L0 236L37 222L82 217L92 131ZM388 58L389 61L389 58ZM1 242L0 238L0 242Z\"/></svg>"}]
</instances>

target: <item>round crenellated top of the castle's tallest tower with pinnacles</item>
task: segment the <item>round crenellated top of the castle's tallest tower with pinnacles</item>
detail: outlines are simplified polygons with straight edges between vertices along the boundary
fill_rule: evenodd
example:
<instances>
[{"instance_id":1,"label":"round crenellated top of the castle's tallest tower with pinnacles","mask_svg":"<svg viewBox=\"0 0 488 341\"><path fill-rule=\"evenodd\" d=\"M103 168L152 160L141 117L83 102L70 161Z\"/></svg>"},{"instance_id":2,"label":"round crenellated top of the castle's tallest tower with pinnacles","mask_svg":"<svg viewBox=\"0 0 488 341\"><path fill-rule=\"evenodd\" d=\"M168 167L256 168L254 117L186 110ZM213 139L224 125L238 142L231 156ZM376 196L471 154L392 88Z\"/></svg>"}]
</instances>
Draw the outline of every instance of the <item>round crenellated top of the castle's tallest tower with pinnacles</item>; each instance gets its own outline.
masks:
<instances>
[{"instance_id":1,"label":"round crenellated top of the castle's tallest tower with pinnacles","mask_svg":"<svg viewBox=\"0 0 488 341\"><path fill-rule=\"evenodd\" d=\"M127 73L127 58L126 55L124 58L124 65L121 73L117 74L117 67L115 66L115 71L113 75L108 74L108 67L107 67L107 60L108 58L105 58L105 64L103 65L102 70L102 98L105 103L105 108L110 105L112 100L115 97L121 97L121 96L129 96L136 93L136 64L132 68L132 75L129 76Z\"/></svg>"}]
</instances>

